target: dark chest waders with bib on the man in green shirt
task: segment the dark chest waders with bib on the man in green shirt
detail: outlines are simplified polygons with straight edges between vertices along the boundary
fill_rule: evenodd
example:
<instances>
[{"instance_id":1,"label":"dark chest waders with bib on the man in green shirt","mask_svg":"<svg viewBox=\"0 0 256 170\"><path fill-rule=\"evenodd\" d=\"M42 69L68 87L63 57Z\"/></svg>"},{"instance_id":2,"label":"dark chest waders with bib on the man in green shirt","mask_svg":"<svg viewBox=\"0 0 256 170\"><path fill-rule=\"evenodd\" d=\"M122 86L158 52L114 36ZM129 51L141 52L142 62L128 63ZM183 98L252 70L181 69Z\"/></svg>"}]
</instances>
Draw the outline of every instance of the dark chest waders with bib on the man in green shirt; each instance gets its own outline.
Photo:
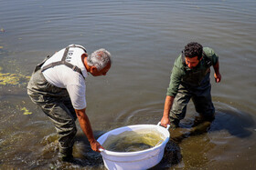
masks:
<instances>
[{"instance_id":1,"label":"dark chest waders with bib on the man in green shirt","mask_svg":"<svg viewBox=\"0 0 256 170\"><path fill-rule=\"evenodd\" d=\"M203 53L202 69L188 69L183 55L183 65L185 73L178 86L178 92L175 96L171 111L171 124L177 126L179 121L184 119L187 112L187 104L192 98L196 111L205 119L211 120L215 108L211 100L211 85L209 80L210 66L212 65L208 57Z\"/></svg>"}]
</instances>

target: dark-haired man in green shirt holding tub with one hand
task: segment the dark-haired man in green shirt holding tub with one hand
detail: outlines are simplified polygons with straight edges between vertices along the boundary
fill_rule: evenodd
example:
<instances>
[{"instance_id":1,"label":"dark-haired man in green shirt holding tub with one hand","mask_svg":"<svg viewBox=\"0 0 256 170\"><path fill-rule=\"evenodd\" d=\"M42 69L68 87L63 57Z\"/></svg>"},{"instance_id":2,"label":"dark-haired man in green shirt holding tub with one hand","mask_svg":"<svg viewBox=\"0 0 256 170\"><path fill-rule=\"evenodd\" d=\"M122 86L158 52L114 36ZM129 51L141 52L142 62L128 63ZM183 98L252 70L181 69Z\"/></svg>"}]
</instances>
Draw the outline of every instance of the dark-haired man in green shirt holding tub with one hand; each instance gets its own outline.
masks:
<instances>
[{"instance_id":1,"label":"dark-haired man in green shirt holding tub with one hand","mask_svg":"<svg viewBox=\"0 0 256 170\"><path fill-rule=\"evenodd\" d=\"M176 58L170 85L167 88L164 114L161 125L176 128L187 111L190 98L199 115L213 120L215 108L210 94L210 66L213 65L215 80L221 80L219 56L213 49L191 42L185 46L182 54Z\"/></svg>"}]
</instances>

